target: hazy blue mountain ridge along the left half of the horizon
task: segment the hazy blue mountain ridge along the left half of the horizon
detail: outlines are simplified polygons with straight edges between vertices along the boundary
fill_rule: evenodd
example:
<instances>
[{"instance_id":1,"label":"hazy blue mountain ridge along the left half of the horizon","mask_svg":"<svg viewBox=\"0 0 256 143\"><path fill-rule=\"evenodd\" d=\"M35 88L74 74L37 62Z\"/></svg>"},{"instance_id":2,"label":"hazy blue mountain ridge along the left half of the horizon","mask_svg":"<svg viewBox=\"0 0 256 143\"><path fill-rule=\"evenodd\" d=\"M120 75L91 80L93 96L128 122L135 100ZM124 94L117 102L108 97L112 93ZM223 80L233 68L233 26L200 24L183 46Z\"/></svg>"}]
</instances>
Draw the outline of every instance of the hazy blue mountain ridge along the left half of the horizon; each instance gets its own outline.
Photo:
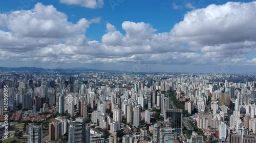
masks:
<instances>
[{"instance_id":1,"label":"hazy blue mountain ridge along the left half of the horizon","mask_svg":"<svg viewBox=\"0 0 256 143\"><path fill-rule=\"evenodd\" d=\"M36 67L18 67L18 68L8 68L0 67L0 71L29 71L29 72L44 72L44 71L92 71L92 72L121 72L117 70L99 70L99 69L88 69L88 68L69 68L69 69L45 69L45 68L36 68Z\"/></svg>"}]
</instances>

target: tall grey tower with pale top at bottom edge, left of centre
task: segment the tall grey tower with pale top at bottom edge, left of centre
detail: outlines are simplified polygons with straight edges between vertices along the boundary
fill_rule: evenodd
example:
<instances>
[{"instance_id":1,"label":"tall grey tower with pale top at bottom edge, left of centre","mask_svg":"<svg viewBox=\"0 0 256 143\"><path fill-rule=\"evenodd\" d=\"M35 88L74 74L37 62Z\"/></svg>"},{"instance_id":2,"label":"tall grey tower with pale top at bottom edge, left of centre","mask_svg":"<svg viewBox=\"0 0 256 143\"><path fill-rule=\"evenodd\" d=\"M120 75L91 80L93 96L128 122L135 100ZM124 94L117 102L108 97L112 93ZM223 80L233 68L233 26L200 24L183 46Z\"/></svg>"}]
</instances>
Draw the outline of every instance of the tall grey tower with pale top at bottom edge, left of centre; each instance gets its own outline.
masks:
<instances>
[{"instance_id":1,"label":"tall grey tower with pale top at bottom edge, left of centre","mask_svg":"<svg viewBox=\"0 0 256 143\"><path fill-rule=\"evenodd\" d=\"M86 142L86 119L76 118L74 123L74 143Z\"/></svg>"}]
</instances>

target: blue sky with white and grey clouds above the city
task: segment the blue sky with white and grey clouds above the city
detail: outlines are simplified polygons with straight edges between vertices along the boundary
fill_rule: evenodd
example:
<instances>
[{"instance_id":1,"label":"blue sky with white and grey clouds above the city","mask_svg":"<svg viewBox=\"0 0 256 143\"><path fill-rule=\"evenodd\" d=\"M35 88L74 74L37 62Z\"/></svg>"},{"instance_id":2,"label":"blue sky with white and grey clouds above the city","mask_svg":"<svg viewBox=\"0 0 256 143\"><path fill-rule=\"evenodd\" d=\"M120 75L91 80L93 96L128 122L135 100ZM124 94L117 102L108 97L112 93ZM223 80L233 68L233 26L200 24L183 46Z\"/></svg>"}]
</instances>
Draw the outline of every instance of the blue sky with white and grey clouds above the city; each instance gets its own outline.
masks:
<instances>
[{"instance_id":1,"label":"blue sky with white and grey clouds above the city","mask_svg":"<svg viewBox=\"0 0 256 143\"><path fill-rule=\"evenodd\" d=\"M256 71L253 1L87 1L1 1L0 66Z\"/></svg>"}]
</instances>

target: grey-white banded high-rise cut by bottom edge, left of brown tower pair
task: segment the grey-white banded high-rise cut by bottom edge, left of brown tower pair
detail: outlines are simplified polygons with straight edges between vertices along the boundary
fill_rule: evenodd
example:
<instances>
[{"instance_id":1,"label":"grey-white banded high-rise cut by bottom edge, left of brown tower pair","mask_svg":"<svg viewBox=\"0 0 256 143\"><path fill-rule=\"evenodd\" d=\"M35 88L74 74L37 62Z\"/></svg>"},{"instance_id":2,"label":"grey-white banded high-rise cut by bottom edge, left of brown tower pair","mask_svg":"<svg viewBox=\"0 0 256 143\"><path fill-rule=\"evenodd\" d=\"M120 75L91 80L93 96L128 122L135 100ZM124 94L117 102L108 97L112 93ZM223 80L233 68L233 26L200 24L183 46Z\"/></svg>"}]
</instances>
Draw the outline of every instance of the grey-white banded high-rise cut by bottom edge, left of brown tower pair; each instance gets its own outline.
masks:
<instances>
[{"instance_id":1,"label":"grey-white banded high-rise cut by bottom edge, left of brown tower pair","mask_svg":"<svg viewBox=\"0 0 256 143\"><path fill-rule=\"evenodd\" d=\"M42 126L29 127L29 143L42 143Z\"/></svg>"}]
</instances>

